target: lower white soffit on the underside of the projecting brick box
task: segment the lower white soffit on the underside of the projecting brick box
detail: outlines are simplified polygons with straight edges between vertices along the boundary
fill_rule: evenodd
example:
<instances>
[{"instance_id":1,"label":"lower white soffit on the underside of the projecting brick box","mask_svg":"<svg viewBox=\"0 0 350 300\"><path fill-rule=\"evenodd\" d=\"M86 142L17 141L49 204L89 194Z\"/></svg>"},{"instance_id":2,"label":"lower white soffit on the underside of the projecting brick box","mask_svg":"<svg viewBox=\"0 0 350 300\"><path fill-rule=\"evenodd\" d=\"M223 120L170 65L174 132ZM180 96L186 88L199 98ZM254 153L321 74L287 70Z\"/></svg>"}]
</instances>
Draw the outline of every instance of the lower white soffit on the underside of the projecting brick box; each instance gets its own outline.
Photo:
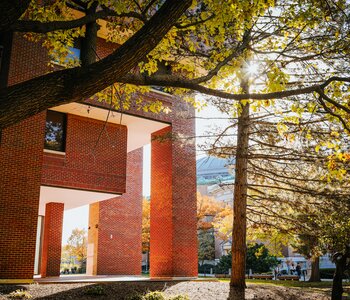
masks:
<instances>
[{"instance_id":1,"label":"lower white soffit on the underside of the projecting brick box","mask_svg":"<svg viewBox=\"0 0 350 300\"><path fill-rule=\"evenodd\" d=\"M45 205L49 202L64 203L64 209L68 210L115 197L119 197L119 195L111 193L99 193L84 190L65 189L52 186L41 186L39 215L45 215Z\"/></svg>"}]
</instances>

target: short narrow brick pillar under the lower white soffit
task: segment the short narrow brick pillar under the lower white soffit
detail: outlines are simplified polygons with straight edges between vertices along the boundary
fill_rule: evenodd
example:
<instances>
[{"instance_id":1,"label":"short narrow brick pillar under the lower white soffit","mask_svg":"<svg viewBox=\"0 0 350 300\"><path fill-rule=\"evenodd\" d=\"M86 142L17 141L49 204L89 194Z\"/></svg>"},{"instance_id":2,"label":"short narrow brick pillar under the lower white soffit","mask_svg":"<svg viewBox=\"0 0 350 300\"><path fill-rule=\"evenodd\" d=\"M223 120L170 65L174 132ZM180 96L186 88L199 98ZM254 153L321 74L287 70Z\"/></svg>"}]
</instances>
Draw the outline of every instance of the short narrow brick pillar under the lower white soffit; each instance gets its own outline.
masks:
<instances>
[{"instance_id":1,"label":"short narrow brick pillar under the lower white soffit","mask_svg":"<svg viewBox=\"0 0 350 300\"><path fill-rule=\"evenodd\" d=\"M60 276L63 211L64 203L46 204L41 277Z\"/></svg>"}]
</instances>

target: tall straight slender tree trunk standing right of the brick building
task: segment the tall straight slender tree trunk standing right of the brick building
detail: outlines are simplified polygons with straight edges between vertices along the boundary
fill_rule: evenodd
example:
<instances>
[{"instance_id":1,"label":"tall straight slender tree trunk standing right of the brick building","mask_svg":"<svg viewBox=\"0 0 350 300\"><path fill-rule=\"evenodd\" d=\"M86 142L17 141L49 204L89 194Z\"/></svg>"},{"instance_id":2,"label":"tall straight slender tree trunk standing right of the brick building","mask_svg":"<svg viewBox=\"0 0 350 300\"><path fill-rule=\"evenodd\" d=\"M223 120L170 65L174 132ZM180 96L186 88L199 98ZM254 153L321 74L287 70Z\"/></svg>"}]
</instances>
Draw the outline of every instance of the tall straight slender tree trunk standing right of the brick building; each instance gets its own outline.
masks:
<instances>
[{"instance_id":1,"label":"tall straight slender tree trunk standing right of the brick building","mask_svg":"<svg viewBox=\"0 0 350 300\"><path fill-rule=\"evenodd\" d=\"M248 93L248 82L242 81L243 92ZM238 117L238 136L235 166L235 186L233 202L232 230L232 274L229 299L241 300L245 297L245 261L247 231L247 165L249 142L249 103L242 106Z\"/></svg>"}]
</instances>

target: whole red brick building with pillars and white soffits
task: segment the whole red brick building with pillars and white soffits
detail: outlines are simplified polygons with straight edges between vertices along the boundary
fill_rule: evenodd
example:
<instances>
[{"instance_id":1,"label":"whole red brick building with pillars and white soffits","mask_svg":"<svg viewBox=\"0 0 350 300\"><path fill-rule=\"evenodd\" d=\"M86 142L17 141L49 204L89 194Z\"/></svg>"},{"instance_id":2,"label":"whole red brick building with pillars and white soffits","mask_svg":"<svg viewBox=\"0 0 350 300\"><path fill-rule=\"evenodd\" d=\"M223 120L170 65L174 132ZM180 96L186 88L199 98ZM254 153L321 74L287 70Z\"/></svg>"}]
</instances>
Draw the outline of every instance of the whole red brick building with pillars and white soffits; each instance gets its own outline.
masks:
<instances>
[{"instance_id":1,"label":"whole red brick building with pillars and white soffits","mask_svg":"<svg viewBox=\"0 0 350 300\"><path fill-rule=\"evenodd\" d=\"M10 85L49 71L39 44L15 35L12 49ZM100 56L113 49L99 39ZM34 264L42 276L58 276L63 212L86 204L88 274L141 273L142 146L152 136L193 136L194 111L165 93L140 96L171 112L133 105L109 112L109 105L88 99L2 131L0 282L32 280ZM151 277L197 276L194 141L151 144Z\"/></svg>"}]
</instances>

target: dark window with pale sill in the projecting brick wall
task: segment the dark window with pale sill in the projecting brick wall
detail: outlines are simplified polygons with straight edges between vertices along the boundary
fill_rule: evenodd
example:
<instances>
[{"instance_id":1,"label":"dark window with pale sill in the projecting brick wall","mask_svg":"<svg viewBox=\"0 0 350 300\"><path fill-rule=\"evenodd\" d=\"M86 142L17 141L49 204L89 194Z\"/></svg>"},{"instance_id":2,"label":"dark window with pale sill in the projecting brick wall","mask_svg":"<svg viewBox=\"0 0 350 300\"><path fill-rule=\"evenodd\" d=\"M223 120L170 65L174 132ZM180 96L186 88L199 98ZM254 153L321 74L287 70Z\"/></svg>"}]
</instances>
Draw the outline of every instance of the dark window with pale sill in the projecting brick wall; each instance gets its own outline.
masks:
<instances>
[{"instance_id":1,"label":"dark window with pale sill in the projecting brick wall","mask_svg":"<svg viewBox=\"0 0 350 300\"><path fill-rule=\"evenodd\" d=\"M48 110L45 128L45 149L64 152L66 148L66 114Z\"/></svg>"}]
</instances>

